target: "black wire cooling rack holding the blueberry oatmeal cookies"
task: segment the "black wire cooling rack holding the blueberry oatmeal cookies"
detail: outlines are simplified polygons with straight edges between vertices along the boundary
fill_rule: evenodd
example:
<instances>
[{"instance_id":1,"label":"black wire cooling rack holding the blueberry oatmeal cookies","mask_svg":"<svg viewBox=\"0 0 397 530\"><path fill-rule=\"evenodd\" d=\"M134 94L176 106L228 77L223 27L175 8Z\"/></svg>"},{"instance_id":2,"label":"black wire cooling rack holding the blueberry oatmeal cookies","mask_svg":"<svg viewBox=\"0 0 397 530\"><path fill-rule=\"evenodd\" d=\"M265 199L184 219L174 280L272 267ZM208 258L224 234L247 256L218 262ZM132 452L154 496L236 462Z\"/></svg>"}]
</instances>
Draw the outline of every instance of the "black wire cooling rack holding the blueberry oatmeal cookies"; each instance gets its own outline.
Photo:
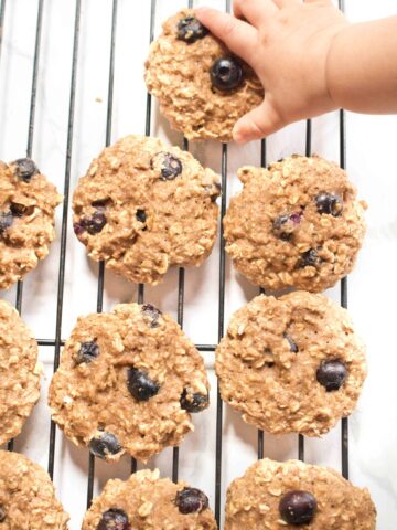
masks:
<instances>
[{"instance_id":1,"label":"black wire cooling rack holding the blueberry oatmeal cookies","mask_svg":"<svg viewBox=\"0 0 397 530\"><path fill-rule=\"evenodd\" d=\"M2 0L0 4L0 60L1 60L1 44L2 44L2 34L4 29L4 14L7 10L7 3L11 0ZM42 22L43 22L43 10L45 1L51 0L37 0L37 14L35 22L35 44L34 44L34 55L33 55L33 74L32 74L32 87L31 87L31 97L30 97L30 110L29 110L29 130L28 130L28 142L26 142L26 156L32 156L32 145L34 136L34 118L35 118L35 104L36 104L36 88L37 88L37 75L39 75L39 63L40 63L40 45L42 36ZM132 0L131 0L132 1ZM110 61L109 61L109 74L108 74L108 94L107 94L107 119L106 119L106 138L105 146L110 145L111 138L111 123L112 123L112 107L114 107L114 78L115 78L115 50L116 50L116 34L117 34L117 12L118 12L118 0L109 0L112 3L111 8L111 32L110 32ZM150 42L152 42L154 36L154 22L155 22L155 11L157 11L158 0L150 0ZM72 155L74 148L74 118L75 118L75 100L76 100L76 81L77 81L77 63L78 63L78 46L79 46L79 30L81 30L81 15L82 15L82 3L84 0L75 0L75 18L74 18L74 36L73 36L73 55L72 55L72 68L71 68L71 88L69 88L69 106L68 106L68 119L67 119L67 140L66 140L66 158L65 158L65 179L64 179L64 203L62 212L62 230L61 230L61 252L60 252L60 262L58 262L58 277L57 277L57 299L56 299L56 324L55 324L55 336L54 338L44 338L36 339L39 346L46 346L54 348L54 371L57 369L60 363L61 348L64 346L65 341L62 339L62 319L63 319L63 301L64 301L64 286L65 286L65 263L66 263L66 251L67 251L67 223L68 223L68 213L69 213L69 193L71 193L71 169L72 169ZM181 8L194 7L194 1L189 0L187 2L181 2ZM232 0L225 0L225 10L230 11ZM344 0L339 0L339 8L344 11L345 2ZM142 9L142 4L139 7ZM146 104L146 135L149 136L151 132L151 115L152 115L152 100L150 94L147 95ZM346 167L346 123L345 123L345 113L340 110L340 165L345 169ZM312 124L311 120L307 121L305 127L305 155L311 155L311 140L312 140ZM189 142L186 139L183 139L183 148L189 150ZM226 202L227 202L227 145L222 144L219 146L219 157L221 157L221 174L222 174L222 199L221 199L221 219L225 215L226 212ZM267 165L266 157L266 139L261 140L260 144L260 162L262 167ZM99 263L98 271L98 284L97 284L97 311L103 310L104 301L104 282L105 282L105 264L104 262ZM183 314L184 314L184 286L185 286L185 274L184 268L179 268L179 278L178 278L178 322L180 326L183 326ZM144 299L144 285L140 284L138 286L138 303L142 304ZM19 312L22 309L23 301L23 282L18 283L17 287L17 297L15 297L15 307ZM347 307L347 278L344 278L341 282L341 305L342 307ZM225 329L225 241L223 239L223 227L221 223L221 245L219 245L219 271L218 271L218 340L222 339ZM214 352L216 344L196 344L197 349L203 352ZM342 475L345 478L348 478L348 421L347 418L342 420L341 426L341 452L342 452ZM265 435L262 431L258 431L258 458L265 456ZM50 427L50 447L49 447L49 474L51 478L54 475L54 464L55 464L55 445L56 445L56 427L53 422L51 422ZM221 528L221 494L222 494L222 447L223 447L223 403L219 395L219 390L217 389L217 402L216 402L216 454L215 454L215 518ZM9 451L13 451L13 441L8 444ZM304 437L302 435L298 436L298 457L301 460L304 460ZM131 473L137 470L136 459L131 459ZM172 480L176 481L179 476L179 447L173 448L172 455ZM93 489L94 489L94 478L95 478L95 457L89 454L88 463L88 476L87 476L87 507L89 507L93 499Z\"/></svg>"}]
</instances>

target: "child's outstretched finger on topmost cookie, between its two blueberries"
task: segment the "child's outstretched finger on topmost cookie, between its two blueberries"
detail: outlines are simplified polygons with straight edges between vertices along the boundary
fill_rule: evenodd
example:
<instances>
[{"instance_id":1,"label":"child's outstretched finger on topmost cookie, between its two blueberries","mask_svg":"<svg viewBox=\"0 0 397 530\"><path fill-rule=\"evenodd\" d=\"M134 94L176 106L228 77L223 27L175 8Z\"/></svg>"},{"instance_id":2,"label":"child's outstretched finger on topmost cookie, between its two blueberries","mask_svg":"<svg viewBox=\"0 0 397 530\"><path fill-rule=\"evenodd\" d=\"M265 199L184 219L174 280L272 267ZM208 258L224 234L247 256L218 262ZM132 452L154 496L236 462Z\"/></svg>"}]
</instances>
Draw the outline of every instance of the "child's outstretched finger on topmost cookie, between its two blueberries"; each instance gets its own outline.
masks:
<instances>
[{"instance_id":1,"label":"child's outstretched finger on topmost cookie, between its two blueberries","mask_svg":"<svg viewBox=\"0 0 397 530\"><path fill-rule=\"evenodd\" d=\"M200 22L224 42L233 53L253 65L258 39L258 32L253 25L232 14L211 8L196 9L195 14Z\"/></svg>"}]
</instances>

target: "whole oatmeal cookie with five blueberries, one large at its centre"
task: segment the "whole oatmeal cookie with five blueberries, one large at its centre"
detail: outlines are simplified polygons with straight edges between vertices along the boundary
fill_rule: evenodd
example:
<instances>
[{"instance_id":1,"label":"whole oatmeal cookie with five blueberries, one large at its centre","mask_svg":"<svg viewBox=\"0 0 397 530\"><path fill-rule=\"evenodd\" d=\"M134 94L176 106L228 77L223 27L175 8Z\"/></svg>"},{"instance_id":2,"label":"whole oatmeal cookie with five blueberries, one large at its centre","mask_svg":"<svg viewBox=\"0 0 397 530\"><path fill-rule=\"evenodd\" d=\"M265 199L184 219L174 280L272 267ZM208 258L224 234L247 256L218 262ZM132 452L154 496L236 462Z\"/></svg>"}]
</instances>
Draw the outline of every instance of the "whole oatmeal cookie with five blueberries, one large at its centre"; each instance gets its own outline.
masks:
<instances>
[{"instance_id":1,"label":"whole oatmeal cookie with five blueberries, one large at its centre","mask_svg":"<svg viewBox=\"0 0 397 530\"><path fill-rule=\"evenodd\" d=\"M168 315L147 304L78 319L49 394L53 418L76 445L146 462L193 430L208 405L204 362Z\"/></svg>"}]
</instances>

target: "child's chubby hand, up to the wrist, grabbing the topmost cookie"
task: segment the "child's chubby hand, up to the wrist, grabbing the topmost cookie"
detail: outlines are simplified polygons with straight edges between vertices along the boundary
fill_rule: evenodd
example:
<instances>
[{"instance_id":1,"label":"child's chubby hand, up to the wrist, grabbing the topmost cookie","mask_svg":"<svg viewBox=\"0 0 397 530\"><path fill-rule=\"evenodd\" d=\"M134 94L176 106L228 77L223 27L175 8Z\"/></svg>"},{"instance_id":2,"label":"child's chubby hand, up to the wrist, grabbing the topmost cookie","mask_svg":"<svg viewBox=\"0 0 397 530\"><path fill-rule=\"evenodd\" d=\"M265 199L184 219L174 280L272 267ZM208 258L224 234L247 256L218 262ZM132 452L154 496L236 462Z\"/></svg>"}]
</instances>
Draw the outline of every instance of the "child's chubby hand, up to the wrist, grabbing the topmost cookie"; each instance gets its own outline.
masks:
<instances>
[{"instance_id":1,"label":"child's chubby hand, up to the wrist, grabbing the topmost cookie","mask_svg":"<svg viewBox=\"0 0 397 530\"><path fill-rule=\"evenodd\" d=\"M328 82L335 35L348 25L329 0L234 0L235 17L201 8L208 30L257 73L262 104L234 127L236 141L262 138L299 119L337 108Z\"/></svg>"}]
</instances>

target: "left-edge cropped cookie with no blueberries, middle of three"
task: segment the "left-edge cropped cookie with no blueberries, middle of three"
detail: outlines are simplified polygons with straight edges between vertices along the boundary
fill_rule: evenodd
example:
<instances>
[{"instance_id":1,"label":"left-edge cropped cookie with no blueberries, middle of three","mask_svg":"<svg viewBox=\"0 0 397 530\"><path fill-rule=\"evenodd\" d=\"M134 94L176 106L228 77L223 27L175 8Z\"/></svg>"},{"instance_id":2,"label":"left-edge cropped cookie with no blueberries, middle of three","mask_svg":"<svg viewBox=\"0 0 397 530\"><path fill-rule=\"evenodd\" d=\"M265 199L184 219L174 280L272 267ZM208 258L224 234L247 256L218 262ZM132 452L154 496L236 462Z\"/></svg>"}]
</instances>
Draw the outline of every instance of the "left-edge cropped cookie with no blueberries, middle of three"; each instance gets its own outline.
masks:
<instances>
[{"instance_id":1,"label":"left-edge cropped cookie with no blueberries, middle of three","mask_svg":"<svg viewBox=\"0 0 397 530\"><path fill-rule=\"evenodd\" d=\"M18 311L0 300L0 445L20 434L40 398L37 352Z\"/></svg>"}]
</instances>

